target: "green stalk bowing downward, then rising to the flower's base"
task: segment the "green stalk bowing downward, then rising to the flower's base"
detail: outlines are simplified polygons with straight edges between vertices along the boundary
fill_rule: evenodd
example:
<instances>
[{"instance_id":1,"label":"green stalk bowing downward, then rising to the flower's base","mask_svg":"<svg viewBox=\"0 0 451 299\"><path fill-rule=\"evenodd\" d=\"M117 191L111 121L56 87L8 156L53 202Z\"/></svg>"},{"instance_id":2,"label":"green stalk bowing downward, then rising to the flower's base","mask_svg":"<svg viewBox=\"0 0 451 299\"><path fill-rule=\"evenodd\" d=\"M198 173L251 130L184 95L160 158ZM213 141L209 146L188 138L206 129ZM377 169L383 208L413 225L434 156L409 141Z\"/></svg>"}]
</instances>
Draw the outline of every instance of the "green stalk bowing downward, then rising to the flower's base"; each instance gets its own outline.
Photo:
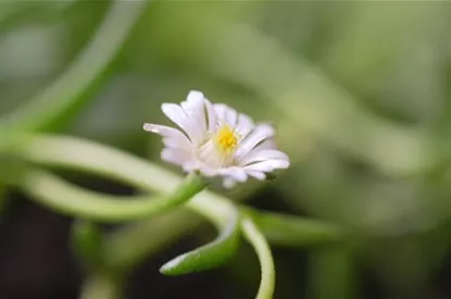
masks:
<instances>
[{"instance_id":1,"label":"green stalk bowing downward, then rising to the flower's base","mask_svg":"<svg viewBox=\"0 0 451 299\"><path fill-rule=\"evenodd\" d=\"M21 188L46 207L71 216L103 222L142 219L185 203L205 188L197 175L187 178L171 195L150 199L101 195L72 185L45 171L27 171L21 178Z\"/></svg>"}]
</instances>

